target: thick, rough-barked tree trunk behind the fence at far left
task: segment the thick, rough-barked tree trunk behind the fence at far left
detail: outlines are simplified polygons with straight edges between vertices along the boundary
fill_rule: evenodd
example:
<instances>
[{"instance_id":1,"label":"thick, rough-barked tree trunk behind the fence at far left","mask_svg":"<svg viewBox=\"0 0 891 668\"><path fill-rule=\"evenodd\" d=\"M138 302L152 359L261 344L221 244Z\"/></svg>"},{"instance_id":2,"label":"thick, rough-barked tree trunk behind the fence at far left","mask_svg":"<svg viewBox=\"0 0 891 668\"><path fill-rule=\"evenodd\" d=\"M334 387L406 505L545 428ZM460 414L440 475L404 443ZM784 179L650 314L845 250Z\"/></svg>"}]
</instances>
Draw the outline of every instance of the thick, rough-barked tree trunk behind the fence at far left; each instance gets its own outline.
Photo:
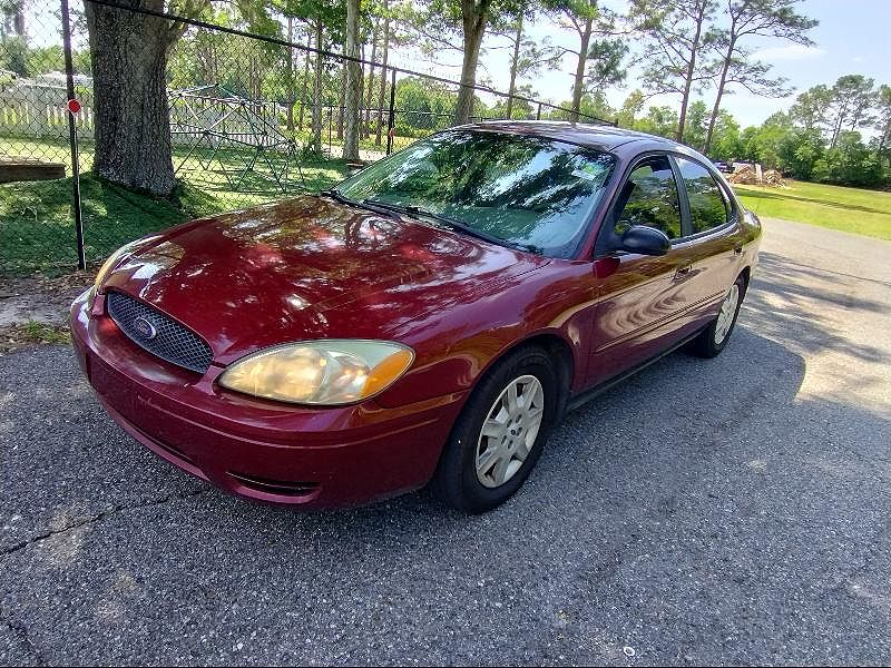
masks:
<instances>
[{"instance_id":1,"label":"thick, rough-barked tree trunk behind the fence at far left","mask_svg":"<svg viewBox=\"0 0 891 668\"><path fill-rule=\"evenodd\" d=\"M121 0L163 11L163 0ZM94 170L168 196L174 187L167 57L182 27L157 17L85 3L94 79Z\"/></svg>"}]
</instances>

